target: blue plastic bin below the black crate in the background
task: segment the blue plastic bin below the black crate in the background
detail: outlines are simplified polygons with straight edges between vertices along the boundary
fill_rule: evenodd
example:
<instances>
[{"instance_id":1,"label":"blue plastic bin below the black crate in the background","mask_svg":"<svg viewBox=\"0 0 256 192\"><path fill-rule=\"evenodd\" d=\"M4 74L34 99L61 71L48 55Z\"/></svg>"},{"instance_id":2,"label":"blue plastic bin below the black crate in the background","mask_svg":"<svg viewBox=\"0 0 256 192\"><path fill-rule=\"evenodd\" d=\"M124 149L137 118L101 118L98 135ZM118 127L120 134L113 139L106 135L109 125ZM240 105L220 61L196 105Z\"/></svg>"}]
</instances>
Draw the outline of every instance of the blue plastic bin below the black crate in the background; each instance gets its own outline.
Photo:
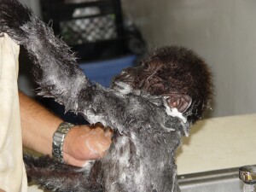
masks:
<instances>
[{"instance_id":1,"label":"blue plastic bin below the black crate in the background","mask_svg":"<svg viewBox=\"0 0 256 192\"><path fill-rule=\"evenodd\" d=\"M136 59L136 55L128 55L112 60L79 63L79 67L90 80L109 87L113 76L126 67L134 66Z\"/></svg>"}]
</instances>

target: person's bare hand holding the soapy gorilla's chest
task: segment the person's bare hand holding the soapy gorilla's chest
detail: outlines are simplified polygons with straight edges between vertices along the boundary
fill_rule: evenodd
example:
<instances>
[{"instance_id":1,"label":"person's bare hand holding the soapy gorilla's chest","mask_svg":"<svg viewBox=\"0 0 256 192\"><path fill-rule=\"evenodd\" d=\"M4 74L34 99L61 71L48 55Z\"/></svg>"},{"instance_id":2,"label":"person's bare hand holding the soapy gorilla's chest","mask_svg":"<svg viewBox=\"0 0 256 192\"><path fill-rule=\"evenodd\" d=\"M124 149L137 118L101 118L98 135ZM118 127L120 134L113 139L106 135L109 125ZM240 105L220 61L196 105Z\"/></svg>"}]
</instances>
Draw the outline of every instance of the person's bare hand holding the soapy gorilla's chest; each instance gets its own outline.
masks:
<instances>
[{"instance_id":1,"label":"person's bare hand holding the soapy gorilla's chest","mask_svg":"<svg viewBox=\"0 0 256 192\"><path fill-rule=\"evenodd\" d=\"M87 160L102 158L111 144L112 131L102 124L76 125L63 143L63 159L72 166L84 166Z\"/></svg>"}]
</instances>

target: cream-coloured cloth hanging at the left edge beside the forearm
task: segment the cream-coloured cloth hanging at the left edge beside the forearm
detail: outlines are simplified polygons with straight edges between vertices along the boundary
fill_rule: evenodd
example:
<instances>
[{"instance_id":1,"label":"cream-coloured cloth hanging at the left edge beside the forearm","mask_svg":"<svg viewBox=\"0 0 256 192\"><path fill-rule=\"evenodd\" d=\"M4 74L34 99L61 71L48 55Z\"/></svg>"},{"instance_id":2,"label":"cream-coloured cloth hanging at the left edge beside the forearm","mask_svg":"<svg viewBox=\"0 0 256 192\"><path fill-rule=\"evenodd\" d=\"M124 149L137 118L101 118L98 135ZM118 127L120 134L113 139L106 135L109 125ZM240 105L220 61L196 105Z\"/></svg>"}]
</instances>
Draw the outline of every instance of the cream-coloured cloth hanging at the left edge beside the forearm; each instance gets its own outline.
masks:
<instances>
[{"instance_id":1,"label":"cream-coloured cloth hanging at the left edge beside the forearm","mask_svg":"<svg viewBox=\"0 0 256 192\"><path fill-rule=\"evenodd\" d=\"M17 85L19 51L6 34L0 38L0 189L6 192L27 191Z\"/></svg>"}]
</instances>

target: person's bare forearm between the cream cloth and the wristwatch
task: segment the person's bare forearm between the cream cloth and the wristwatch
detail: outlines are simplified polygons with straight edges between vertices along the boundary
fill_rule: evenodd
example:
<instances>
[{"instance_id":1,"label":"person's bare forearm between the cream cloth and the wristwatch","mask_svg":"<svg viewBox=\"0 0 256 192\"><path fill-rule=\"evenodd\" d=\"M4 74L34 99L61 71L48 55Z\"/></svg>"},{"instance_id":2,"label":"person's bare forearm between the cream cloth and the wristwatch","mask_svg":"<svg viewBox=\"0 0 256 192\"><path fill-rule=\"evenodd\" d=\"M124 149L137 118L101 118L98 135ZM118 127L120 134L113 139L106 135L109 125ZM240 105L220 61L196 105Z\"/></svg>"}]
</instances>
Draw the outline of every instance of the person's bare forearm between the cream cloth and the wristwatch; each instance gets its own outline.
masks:
<instances>
[{"instance_id":1,"label":"person's bare forearm between the cream cloth and the wristwatch","mask_svg":"<svg viewBox=\"0 0 256 192\"><path fill-rule=\"evenodd\" d=\"M22 143L42 154L51 154L52 136L62 120L19 91Z\"/></svg>"}]
</instances>

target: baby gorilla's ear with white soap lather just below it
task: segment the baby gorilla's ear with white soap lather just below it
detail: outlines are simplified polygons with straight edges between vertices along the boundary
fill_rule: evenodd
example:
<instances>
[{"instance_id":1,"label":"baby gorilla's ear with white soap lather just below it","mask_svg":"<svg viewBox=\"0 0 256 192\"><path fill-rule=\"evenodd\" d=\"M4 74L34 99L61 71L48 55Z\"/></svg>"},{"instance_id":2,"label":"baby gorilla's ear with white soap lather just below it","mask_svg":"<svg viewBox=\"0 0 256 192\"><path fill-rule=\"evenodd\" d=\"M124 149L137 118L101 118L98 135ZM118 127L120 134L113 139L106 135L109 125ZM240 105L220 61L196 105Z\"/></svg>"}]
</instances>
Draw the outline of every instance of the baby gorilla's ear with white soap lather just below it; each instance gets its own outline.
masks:
<instances>
[{"instance_id":1,"label":"baby gorilla's ear with white soap lather just below it","mask_svg":"<svg viewBox=\"0 0 256 192\"><path fill-rule=\"evenodd\" d=\"M188 95L171 93L166 95L166 102L170 108L177 108L177 111L184 113L191 105L192 99Z\"/></svg>"}]
</instances>

